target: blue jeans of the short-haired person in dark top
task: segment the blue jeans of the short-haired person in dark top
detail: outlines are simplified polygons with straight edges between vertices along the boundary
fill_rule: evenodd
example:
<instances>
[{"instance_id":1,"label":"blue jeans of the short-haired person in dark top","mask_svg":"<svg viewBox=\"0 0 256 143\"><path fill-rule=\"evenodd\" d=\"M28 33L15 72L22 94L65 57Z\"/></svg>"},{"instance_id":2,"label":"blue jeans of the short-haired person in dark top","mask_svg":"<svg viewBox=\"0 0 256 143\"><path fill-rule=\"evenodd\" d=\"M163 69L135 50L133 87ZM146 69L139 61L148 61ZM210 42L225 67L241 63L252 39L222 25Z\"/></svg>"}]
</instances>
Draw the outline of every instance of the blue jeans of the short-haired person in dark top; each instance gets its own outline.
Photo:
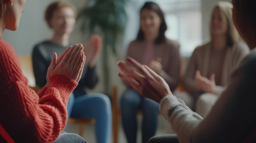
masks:
<instances>
[{"instance_id":1,"label":"blue jeans of the short-haired person in dark top","mask_svg":"<svg viewBox=\"0 0 256 143\"><path fill-rule=\"evenodd\" d=\"M108 96L90 93L79 97L70 95L67 104L68 117L95 119L97 143L108 143L112 133L112 110Z\"/></svg>"}]
</instances>

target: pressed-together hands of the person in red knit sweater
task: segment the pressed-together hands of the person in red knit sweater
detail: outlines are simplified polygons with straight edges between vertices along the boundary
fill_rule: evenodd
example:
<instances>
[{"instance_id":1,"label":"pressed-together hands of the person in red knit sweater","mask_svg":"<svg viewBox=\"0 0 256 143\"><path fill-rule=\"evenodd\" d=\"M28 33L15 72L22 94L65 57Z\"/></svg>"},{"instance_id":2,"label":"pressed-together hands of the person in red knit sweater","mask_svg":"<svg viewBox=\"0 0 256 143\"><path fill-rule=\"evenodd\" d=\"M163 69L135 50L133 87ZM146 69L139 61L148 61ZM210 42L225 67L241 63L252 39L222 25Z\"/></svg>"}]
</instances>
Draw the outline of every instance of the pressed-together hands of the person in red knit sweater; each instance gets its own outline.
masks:
<instances>
[{"instance_id":1,"label":"pressed-together hands of the person in red knit sweater","mask_svg":"<svg viewBox=\"0 0 256 143\"><path fill-rule=\"evenodd\" d=\"M83 53L83 45L76 44L67 48L58 58L56 53L52 58L52 62L47 70L47 84L49 87L49 77L61 74L79 82L85 64L85 55Z\"/></svg>"}]
</instances>

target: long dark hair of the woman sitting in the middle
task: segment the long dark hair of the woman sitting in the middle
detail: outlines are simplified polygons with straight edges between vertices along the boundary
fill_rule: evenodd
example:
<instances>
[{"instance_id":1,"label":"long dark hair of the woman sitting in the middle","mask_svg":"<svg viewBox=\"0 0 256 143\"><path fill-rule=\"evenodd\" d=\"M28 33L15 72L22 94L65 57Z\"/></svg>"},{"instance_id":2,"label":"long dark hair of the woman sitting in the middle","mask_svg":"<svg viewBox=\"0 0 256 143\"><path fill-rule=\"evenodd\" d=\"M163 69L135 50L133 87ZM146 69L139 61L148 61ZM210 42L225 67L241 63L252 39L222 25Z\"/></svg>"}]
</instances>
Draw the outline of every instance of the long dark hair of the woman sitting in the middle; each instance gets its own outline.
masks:
<instances>
[{"instance_id":1,"label":"long dark hair of the woman sitting in the middle","mask_svg":"<svg viewBox=\"0 0 256 143\"><path fill-rule=\"evenodd\" d=\"M155 2L145 2L144 6L140 10L140 13L143 9L148 9L150 11L154 11L160 17L162 23L160 24L159 35L158 35L157 39L155 40L155 43L159 44L159 43L165 42L166 37L165 37L164 33L167 30L167 25L166 25L166 22L164 20L163 11L160 9L160 7ZM144 40L144 38L145 38L144 33L141 30L141 28L139 28L139 33L137 35L136 40Z\"/></svg>"}]
</instances>

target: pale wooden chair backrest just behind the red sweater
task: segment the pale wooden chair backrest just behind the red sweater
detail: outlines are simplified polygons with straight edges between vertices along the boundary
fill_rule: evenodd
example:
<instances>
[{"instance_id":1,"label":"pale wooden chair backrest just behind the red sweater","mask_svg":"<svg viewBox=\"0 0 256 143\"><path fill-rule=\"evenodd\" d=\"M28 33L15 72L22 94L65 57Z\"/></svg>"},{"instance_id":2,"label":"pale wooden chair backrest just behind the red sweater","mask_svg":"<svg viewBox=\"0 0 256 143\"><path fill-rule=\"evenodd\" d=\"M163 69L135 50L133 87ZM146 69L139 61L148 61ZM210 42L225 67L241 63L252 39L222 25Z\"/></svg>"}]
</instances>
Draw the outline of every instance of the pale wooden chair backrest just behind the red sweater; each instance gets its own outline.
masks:
<instances>
[{"instance_id":1,"label":"pale wooden chair backrest just behind the red sweater","mask_svg":"<svg viewBox=\"0 0 256 143\"><path fill-rule=\"evenodd\" d=\"M22 73L29 80L29 87L36 92L39 92L39 88L36 86L36 80L34 76L34 70L32 65L32 57L31 55L18 55L18 59L20 60Z\"/></svg>"}]
</instances>

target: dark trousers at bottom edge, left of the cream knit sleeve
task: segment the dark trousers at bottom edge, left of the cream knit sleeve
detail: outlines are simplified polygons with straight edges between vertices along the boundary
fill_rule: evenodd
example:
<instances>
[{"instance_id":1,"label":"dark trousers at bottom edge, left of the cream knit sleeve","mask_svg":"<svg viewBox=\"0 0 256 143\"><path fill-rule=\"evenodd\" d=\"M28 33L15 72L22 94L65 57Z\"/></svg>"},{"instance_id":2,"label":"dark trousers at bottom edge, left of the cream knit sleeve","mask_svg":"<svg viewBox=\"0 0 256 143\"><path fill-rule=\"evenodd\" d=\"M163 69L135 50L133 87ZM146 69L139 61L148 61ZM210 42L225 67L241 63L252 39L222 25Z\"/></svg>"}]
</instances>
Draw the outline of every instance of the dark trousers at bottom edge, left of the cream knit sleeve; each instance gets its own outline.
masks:
<instances>
[{"instance_id":1,"label":"dark trousers at bottom edge, left of the cream knit sleeve","mask_svg":"<svg viewBox=\"0 0 256 143\"><path fill-rule=\"evenodd\" d=\"M152 137L148 143L179 143L179 141L176 134L164 134Z\"/></svg>"}]
</instances>

